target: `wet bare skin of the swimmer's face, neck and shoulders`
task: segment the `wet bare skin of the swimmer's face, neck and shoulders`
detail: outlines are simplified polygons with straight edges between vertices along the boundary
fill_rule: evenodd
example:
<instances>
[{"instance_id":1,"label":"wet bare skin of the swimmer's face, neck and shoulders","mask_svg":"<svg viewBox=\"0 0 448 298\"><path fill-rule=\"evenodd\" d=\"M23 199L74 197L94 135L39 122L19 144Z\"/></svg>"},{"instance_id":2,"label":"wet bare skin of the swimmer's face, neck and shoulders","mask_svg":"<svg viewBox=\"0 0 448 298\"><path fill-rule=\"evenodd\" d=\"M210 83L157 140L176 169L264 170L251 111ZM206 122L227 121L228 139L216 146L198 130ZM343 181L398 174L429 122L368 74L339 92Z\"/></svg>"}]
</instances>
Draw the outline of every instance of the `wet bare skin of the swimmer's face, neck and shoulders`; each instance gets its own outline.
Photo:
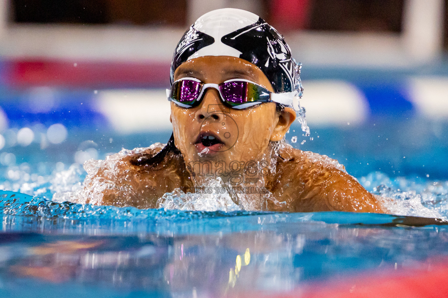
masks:
<instances>
[{"instance_id":1,"label":"wet bare skin of the swimmer's face, neck and shoulders","mask_svg":"<svg viewBox=\"0 0 448 298\"><path fill-rule=\"evenodd\" d=\"M174 80L184 77L194 77L205 84L246 79L273 92L269 80L258 67L235 57L205 56L189 60L177 68ZM164 193L176 188L191 191L193 186L204 185L209 176L220 176L233 186L266 187L273 196L267 201L264 199L263 204L254 204L255 209L383 213L372 194L321 155L290 146L282 146L276 154L275 142L284 138L295 117L292 108L276 111L276 104L272 102L246 109L228 108L214 88L204 90L200 104L193 108L186 109L171 102L174 142L181 154L170 152L154 167L134 165L132 160L141 154L135 152L118 160L113 171L107 166L99 168L95 175L86 178L86 197L97 191L92 187L92 180L108 182L109 186L102 191L101 202L89 199L86 202L156 208L157 200ZM204 138L211 138L213 142L204 142ZM148 148L144 153L154 155L161 148ZM254 175L254 171L247 171L266 160L275 170L255 166ZM204 164L211 169L201 168ZM232 171L239 174L232 175ZM260 194L251 197L254 201L263 200ZM238 203L238 197L233 199Z\"/></svg>"}]
</instances>

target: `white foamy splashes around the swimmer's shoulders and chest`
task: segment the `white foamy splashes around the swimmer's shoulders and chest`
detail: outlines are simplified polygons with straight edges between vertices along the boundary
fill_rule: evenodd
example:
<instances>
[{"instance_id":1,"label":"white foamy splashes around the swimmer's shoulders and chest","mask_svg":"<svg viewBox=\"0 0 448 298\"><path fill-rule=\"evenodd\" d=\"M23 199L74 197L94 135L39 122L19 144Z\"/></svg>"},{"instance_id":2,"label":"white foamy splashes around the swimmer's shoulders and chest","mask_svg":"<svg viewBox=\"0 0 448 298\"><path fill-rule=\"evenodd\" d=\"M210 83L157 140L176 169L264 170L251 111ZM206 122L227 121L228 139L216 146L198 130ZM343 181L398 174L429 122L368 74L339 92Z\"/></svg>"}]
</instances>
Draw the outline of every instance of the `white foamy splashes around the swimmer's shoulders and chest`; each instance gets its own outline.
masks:
<instances>
[{"instance_id":1,"label":"white foamy splashes around the swimmer's shoulders and chest","mask_svg":"<svg viewBox=\"0 0 448 298\"><path fill-rule=\"evenodd\" d=\"M163 145L160 143L153 145L153 147L160 146ZM134 152L141 152L145 149L136 148ZM114 170L116 162L130 152L130 150L123 149L119 153L107 156L104 160L92 159L85 163L84 168L90 176L95 175L100 167L106 165ZM306 153L310 155L311 159L330 163L345 172L344 166L335 159L312 152ZM8 179L0 184L0 189L26 193L34 197L49 198L56 202L74 201L83 203L86 201L86 196L89 195L92 203L101 204L101 192L108 187L108 182L98 183L94 193L86 193L83 190L86 172L81 166L72 164L67 169L63 168L66 168L66 165L58 163L56 169L50 175L39 175L31 173L27 164L10 166L5 171ZM367 190L378 197L391 214L448 219L448 181L432 181L426 177L389 178L381 172L372 172L359 178L359 181ZM221 185L219 180L214 179L209 181L207 186L213 189ZM277 202L277 204L281 204L281 202ZM181 190L166 193L159 199L159 207L167 210L255 210L248 204L235 204L228 192L224 194L216 194L215 192L183 193Z\"/></svg>"}]
</instances>

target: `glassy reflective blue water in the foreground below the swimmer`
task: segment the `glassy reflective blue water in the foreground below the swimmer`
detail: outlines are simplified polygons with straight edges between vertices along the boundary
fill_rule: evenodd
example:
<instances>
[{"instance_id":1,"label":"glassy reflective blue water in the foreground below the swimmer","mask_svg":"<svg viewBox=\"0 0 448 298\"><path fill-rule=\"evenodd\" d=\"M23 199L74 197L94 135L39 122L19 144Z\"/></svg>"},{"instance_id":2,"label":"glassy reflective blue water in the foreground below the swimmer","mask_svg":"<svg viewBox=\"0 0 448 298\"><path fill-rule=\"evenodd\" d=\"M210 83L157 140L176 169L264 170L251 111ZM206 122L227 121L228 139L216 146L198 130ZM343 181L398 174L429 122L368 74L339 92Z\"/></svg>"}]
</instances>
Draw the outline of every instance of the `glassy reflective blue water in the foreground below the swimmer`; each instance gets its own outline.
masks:
<instances>
[{"instance_id":1,"label":"glassy reflective blue water in the foreground below the swimmer","mask_svg":"<svg viewBox=\"0 0 448 298\"><path fill-rule=\"evenodd\" d=\"M306 297L318 285L362 288L363 275L438 272L448 257L448 225L433 218L0 198L0 291L8 297Z\"/></svg>"}]
</instances>

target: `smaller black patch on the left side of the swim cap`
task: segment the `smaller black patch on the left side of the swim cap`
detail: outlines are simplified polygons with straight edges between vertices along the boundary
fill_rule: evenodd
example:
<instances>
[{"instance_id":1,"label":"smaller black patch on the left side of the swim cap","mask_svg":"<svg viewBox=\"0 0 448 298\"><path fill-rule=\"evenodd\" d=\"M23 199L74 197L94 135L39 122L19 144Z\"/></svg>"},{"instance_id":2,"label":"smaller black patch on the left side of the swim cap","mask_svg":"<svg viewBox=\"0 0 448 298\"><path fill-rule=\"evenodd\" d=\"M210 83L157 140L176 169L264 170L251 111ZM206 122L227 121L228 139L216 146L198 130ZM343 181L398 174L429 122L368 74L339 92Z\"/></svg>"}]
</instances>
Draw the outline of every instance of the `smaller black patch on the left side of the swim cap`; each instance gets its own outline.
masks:
<instances>
[{"instance_id":1,"label":"smaller black patch on the left side of the swim cap","mask_svg":"<svg viewBox=\"0 0 448 298\"><path fill-rule=\"evenodd\" d=\"M187 61L188 57L193 55L198 50L205 46L210 46L214 42L215 38L196 30L194 25L191 25L190 29L184 33L181 40L177 44L176 50L174 50L174 57L172 59L170 70L171 83L172 78L174 77L174 71L179 65L181 65L181 63Z\"/></svg>"}]
</instances>

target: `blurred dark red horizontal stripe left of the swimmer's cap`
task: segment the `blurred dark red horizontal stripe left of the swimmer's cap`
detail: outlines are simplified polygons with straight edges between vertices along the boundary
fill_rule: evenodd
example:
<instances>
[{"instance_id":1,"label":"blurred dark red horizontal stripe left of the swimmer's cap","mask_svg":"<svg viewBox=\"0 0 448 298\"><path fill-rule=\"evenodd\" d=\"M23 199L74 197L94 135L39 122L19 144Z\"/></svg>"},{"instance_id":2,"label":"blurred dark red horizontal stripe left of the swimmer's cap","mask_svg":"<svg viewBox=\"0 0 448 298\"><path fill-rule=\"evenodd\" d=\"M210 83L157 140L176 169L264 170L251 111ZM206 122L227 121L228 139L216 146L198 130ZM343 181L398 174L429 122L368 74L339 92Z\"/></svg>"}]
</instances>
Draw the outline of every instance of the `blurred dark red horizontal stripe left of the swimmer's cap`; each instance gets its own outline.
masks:
<instances>
[{"instance_id":1,"label":"blurred dark red horizontal stripe left of the swimmer's cap","mask_svg":"<svg viewBox=\"0 0 448 298\"><path fill-rule=\"evenodd\" d=\"M148 88L169 86L169 63L30 59L6 61L5 64L6 84L11 87L45 85L81 88Z\"/></svg>"}]
</instances>

